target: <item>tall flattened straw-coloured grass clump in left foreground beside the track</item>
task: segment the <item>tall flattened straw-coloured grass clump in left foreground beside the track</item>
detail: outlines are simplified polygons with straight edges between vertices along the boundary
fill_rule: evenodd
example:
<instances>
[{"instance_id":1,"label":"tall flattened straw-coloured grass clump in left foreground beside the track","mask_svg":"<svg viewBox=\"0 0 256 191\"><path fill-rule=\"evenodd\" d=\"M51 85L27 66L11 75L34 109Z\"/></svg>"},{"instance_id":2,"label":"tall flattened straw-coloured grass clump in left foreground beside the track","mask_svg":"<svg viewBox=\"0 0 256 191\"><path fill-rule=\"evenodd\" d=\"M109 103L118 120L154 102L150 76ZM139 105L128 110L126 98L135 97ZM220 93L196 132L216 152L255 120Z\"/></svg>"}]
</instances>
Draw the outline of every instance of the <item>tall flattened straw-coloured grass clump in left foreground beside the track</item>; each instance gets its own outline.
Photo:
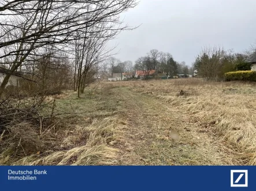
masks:
<instances>
[{"instance_id":1,"label":"tall flattened straw-coloured grass clump in left foreground beside the track","mask_svg":"<svg viewBox=\"0 0 256 191\"><path fill-rule=\"evenodd\" d=\"M30 155L14 165L113 165L118 149L111 145L117 141L117 119L94 120L89 127L77 125L66 129L60 151L47 151L42 156Z\"/></svg>"}]
</instances>

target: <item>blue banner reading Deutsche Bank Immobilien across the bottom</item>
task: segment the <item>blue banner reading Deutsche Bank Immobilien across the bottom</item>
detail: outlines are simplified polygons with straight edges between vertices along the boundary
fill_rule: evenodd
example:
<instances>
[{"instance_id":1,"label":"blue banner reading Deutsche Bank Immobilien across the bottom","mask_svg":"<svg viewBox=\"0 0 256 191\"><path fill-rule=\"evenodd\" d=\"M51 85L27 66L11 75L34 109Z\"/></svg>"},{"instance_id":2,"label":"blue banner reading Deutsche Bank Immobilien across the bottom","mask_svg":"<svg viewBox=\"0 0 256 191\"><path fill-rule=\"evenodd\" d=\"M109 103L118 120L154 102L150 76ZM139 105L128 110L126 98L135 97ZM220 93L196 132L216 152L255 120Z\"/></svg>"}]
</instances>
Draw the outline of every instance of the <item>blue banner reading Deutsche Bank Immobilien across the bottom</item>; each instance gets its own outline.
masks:
<instances>
[{"instance_id":1,"label":"blue banner reading Deutsche Bank Immobilien across the bottom","mask_svg":"<svg viewBox=\"0 0 256 191\"><path fill-rule=\"evenodd\" d=\"M256 190L255 166L0 166L0 190Z\"/></svg>"}]
</instances>

